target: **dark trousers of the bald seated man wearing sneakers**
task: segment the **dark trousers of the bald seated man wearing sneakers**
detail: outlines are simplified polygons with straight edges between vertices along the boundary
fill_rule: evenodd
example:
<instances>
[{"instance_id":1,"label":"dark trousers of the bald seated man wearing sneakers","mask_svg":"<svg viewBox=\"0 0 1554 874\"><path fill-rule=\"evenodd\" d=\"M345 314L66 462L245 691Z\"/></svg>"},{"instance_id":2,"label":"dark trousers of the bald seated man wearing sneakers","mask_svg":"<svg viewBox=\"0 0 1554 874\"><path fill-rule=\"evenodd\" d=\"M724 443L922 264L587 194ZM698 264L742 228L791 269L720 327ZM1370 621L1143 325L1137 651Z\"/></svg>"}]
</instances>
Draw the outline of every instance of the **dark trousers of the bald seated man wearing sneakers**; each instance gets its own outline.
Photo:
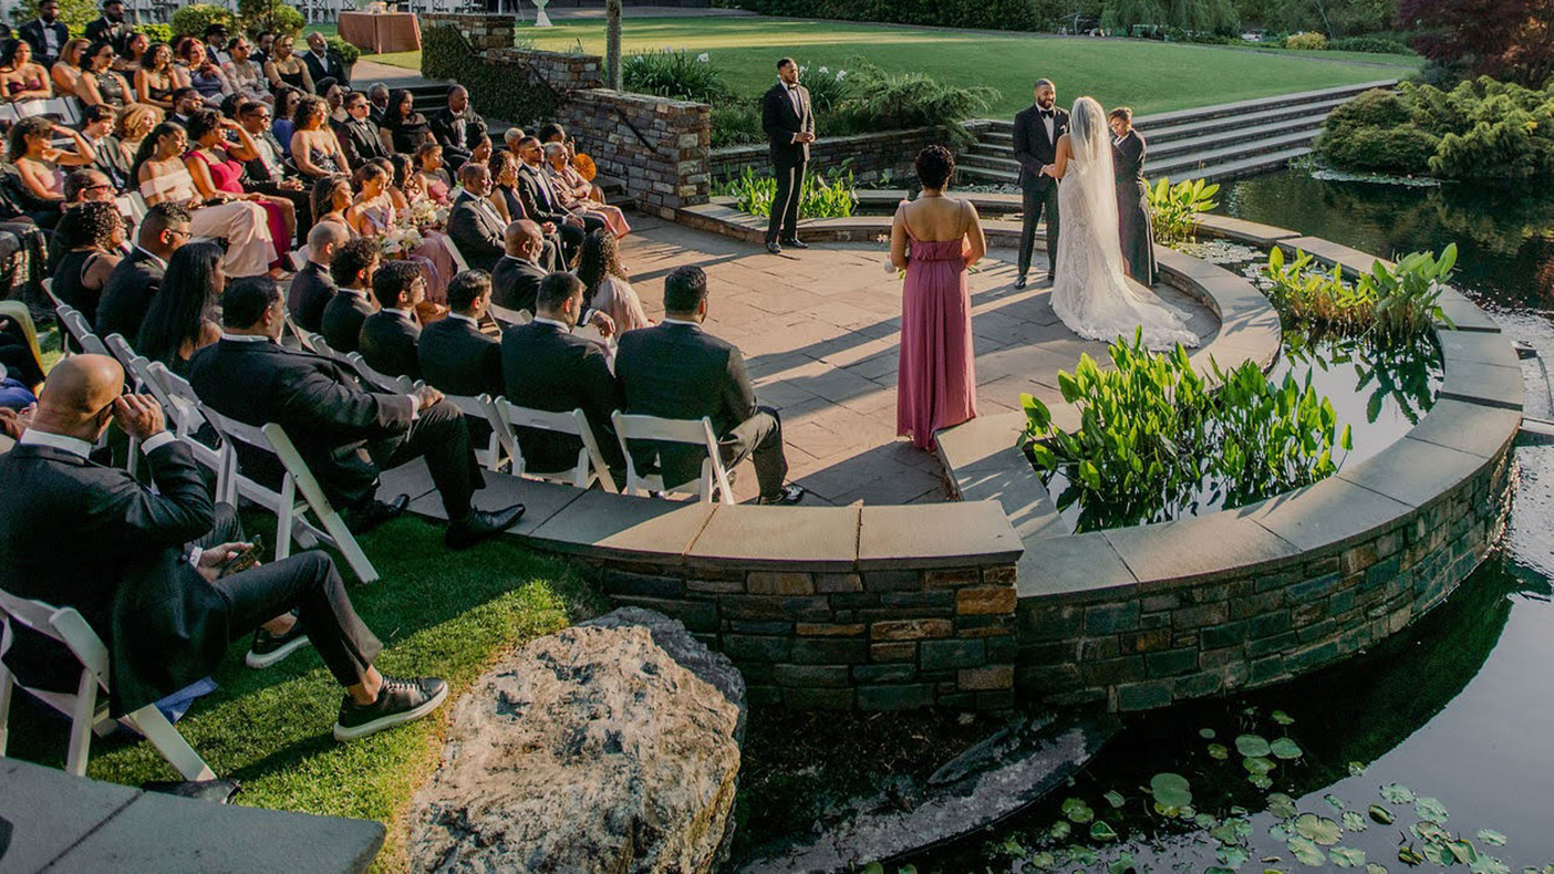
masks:
<instances>
[{"instance_id":1,"label":"dark trousers of the bald seated man wearing sneakers","mask_svg":"<svg viewBox=\"0 0 1554 874\"><path fill-rule=\"evenodd\" d=\"M238 512L232 505L216 505L216 525L197 546L242 540ZM373 632L356 615L345 595L334 560L323 551L309 551L280 562L218 579L216 588L227 599L227 629L239 640L275 616L297 610L297 621L308 630L308 641L325 668L342 686L356 686L382 649Z\"/></svg>"}]
</instances>

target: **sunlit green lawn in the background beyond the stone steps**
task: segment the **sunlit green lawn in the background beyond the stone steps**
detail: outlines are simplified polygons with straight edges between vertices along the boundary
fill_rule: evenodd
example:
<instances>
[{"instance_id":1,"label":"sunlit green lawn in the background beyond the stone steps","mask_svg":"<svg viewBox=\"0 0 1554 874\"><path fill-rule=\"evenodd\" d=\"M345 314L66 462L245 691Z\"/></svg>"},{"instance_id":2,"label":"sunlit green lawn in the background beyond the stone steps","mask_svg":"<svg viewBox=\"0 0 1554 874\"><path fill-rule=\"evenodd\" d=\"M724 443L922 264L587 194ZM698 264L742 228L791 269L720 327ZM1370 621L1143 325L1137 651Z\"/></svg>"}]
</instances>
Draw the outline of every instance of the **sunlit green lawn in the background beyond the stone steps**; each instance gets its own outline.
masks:
<instances>
[{"instance_id":1,"label":"sunlit green lawn in the background beyond the stone steps","mask_svg":"<svg viewBox=\"0 0 1554 874\"><path fill-rule=\"evenodd\" d=\"M563 22L519 31L538 48L603 54L603 22ZM995 116L1030 102L1030 84L1051 78L1058 99L1092 95L1103 106L1169 112L1279 93L1400 78L1419 59L1392 54L1284 53L1279 50L1102 40L1013 33L953 31L797 19L628 19L625 51L706 51L740 93L757 95L775 81L775 61L791 54L811 67L847 68L862 56L889 71L918 70L946 82L991 85L1002 95ZM420 53L373 61L420 68ZM821 118L824 129L825 120Z\"/></svg>"}]
</instances>

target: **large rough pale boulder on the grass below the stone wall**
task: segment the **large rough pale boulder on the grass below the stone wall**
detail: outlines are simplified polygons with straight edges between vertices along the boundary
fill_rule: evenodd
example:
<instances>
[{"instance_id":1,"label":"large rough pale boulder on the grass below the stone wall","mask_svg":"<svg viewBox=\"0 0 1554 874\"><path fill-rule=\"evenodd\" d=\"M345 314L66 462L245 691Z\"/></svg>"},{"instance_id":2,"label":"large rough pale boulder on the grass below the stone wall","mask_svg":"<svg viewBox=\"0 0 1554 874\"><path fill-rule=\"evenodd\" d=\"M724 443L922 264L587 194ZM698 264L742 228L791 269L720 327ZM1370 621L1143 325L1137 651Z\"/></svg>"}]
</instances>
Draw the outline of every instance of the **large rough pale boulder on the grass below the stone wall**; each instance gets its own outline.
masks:
<instances>
[{"instance_id":1,"label":"large rough pale boulder on the grass below the stone wall","mask_svg":"<svg viewBox=\"0 0 1554 874\"><path fill-rule=\"evenodd\" d=\"M628 607L539 638L454 705L409 813L412 866L710 871L743 711L729 660L659 613Z\"/></svg>"}]
</instances>

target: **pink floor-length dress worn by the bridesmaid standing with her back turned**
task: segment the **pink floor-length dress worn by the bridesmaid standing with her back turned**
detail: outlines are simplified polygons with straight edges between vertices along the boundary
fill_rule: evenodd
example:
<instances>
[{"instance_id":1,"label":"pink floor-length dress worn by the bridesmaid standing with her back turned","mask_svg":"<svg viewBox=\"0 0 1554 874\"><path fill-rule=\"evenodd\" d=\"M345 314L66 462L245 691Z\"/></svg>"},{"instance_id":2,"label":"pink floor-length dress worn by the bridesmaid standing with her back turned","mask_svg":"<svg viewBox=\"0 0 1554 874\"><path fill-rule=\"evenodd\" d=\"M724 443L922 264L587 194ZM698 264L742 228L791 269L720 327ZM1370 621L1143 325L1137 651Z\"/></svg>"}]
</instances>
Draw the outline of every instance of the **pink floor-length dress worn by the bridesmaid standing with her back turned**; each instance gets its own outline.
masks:
<instances>
[{"instance_id":1,"label":"pink floor-length dress worn by the bridesmaid standing with her back turned","mask_svg":"<svg viewBox=\"0 0 1554 874\"><path fill-rule=\"evenodd\" d=\"M901 287L895 433L925 450L932 449L936 430L976 418L971 287L962 244L912 238Z\"/></svg>"}]
</instances>

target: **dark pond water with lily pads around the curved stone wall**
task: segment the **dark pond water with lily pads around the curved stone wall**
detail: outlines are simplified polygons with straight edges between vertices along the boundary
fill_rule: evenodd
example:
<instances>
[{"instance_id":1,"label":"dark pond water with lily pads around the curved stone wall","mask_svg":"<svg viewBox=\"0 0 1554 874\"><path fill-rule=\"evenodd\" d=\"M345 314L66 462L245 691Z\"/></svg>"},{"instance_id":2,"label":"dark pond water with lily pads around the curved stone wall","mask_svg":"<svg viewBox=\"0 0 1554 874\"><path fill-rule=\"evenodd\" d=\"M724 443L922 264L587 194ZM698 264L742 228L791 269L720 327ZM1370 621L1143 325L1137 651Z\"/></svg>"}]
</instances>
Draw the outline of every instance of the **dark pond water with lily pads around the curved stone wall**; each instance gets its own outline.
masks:
<instances>
[{"instance_id":1,"label":"dark pond water with lily pads around the curved stone wall","mask_svg":"<svg viewBox=\"0 0 1554 874\"><path fill-rule=\"evenodd\" d=\"M1554 192L1389 188L1290 171L1232 183L1223 194L1228 214L1377 255L1456 242L1459 287L1507 335L1554 357ZM1523 369L1528 416L1549 418L1543 365ZM1445 840L1423 840L1414 827L1467 838L1473 854L1503 863L1479 860L1475 871L1543 871L1554 863L1554 447L1521 447L1517 460L1521 477L1503 553L1406 633L1294 683L1134 717L1072 787L991 834L915 860L917 868L1035 871L1044 868L1032 858L1047 862L1043 848L1085 846L1099 857L1060 852L1054 869L1106 871L1127 854L1139 871L1403 871L1400 848L1422 854L1420 869L1441 869ZM1287 736L1302 754L1259 756L1276 765L1259 789L1237 750L1248 733ZM1228 747L1226 758L1215 758L1211 744ZM1152 810L1144 787L1162 772L1187 778L1195 812L1209 818ZM1091 823L1064 817L1071 798L1085 809L1069 803L1069 812L1085 818L1088 810L1122 840L1091 840ZM1394 821L1372 820L1371 806ZM1291 807L1313 817L1298 820L1296 834L1271 834L1280 818L1270 809ZM1420 826L1431 818L1445 820L1439 832ZM1071 837L1051 837L1058 821L1071 823ZM1344 851L1335 855L1338 848ZM1321 852L1321 862L1308 866L1296 851L1313 862L1310 854Z\"/></svg>"}]
</instances>

